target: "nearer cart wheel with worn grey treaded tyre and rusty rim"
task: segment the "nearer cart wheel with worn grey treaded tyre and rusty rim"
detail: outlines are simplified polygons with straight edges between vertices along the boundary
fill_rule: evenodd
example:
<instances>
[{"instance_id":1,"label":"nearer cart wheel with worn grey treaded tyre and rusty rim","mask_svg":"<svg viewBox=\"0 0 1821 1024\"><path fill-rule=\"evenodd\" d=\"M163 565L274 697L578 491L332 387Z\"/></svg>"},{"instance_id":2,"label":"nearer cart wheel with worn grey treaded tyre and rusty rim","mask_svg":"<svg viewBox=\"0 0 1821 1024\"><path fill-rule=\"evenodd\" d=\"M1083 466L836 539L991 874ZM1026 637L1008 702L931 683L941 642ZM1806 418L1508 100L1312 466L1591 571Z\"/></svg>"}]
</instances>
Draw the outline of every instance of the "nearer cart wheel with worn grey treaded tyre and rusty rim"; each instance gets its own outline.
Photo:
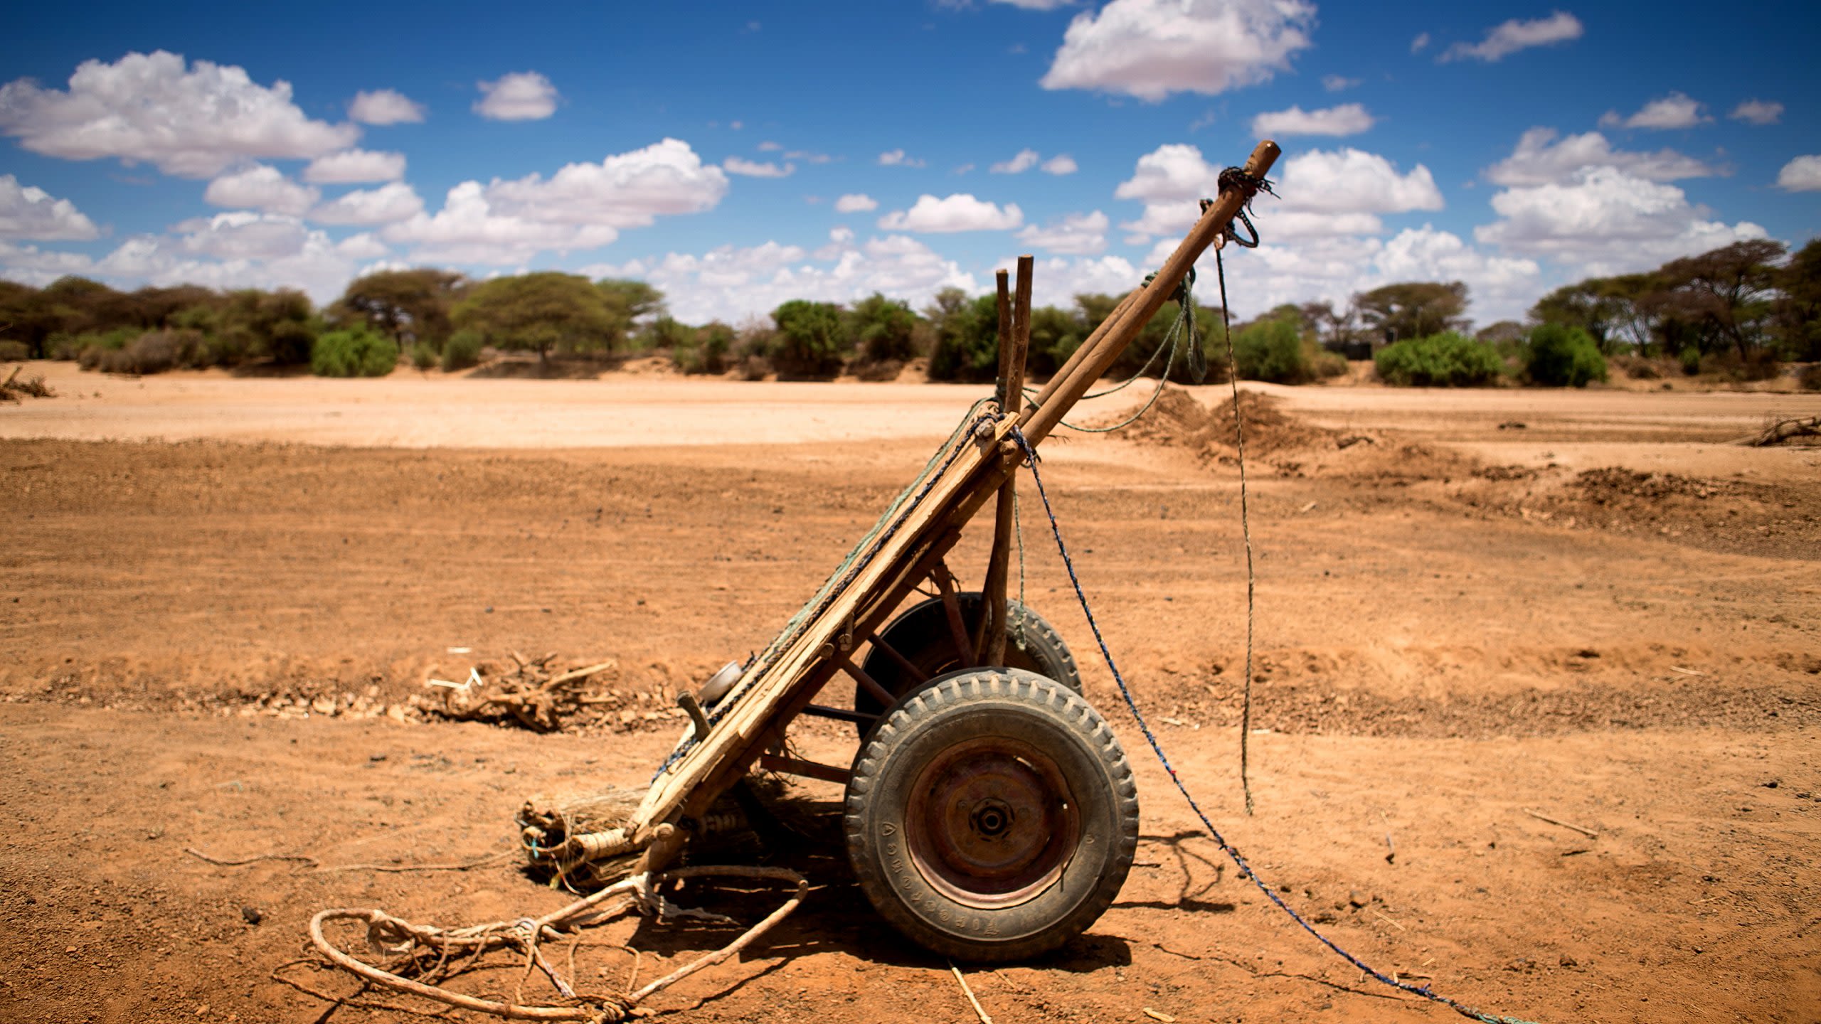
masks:
<instances>
[{"instance_id":1,"label":"nearer cart wheel with worn grey treaded tyre and rusty rim","mask_svg":"<svg viewBox=\"0 0 1821 1024\"><path fill-rule=\"evenodd\" d=\"M1093 924L1138 849L1125 751L1076 692L972 669L901 698L847 783L860 889L910 940L1016 960Z\"/></svg>"}]
</instances>

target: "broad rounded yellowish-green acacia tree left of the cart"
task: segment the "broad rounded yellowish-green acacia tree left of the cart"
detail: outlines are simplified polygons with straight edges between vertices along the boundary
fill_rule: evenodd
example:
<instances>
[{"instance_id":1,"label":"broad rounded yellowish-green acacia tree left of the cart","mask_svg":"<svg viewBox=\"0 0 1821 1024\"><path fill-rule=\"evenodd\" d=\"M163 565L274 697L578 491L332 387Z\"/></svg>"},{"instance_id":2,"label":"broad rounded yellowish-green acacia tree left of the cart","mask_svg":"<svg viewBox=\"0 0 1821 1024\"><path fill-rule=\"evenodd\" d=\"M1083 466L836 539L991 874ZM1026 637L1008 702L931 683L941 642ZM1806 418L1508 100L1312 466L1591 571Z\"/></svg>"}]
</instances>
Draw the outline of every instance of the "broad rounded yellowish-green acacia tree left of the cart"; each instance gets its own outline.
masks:
<instances>
[{"instance_id":1,"label":"broad rounded yellowish-green acacia tree left of the cart","mask_svg":"<svg viewBox=\"0 0 1821 1024\"><path fill-rule=\"evenodd\" d=\"M457 328L481 332L495 348L550 352L603 348L614 330L606 299L586 277L543 270L475 284L450 317Z\"/></svg>"}]
</instances>

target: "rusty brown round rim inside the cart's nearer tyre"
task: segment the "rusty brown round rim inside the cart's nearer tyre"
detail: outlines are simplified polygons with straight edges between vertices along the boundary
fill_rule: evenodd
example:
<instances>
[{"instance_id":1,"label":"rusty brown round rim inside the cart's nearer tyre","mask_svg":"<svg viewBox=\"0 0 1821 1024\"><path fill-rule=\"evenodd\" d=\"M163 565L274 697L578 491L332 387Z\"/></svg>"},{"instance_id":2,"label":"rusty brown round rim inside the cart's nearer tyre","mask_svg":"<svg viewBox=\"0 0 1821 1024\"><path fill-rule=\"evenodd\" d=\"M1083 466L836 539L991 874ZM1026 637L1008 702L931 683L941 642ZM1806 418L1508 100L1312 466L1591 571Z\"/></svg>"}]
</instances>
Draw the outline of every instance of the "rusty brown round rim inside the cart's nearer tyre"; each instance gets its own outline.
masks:
<instances>
[{"instance_id":1,"label":"rusty brown round rim inside the cart's nearer tyre","mask_svg":"<svg viewBox=\"0 0 1821 1024\"><path fill-rule=\"evenodd\" d=\"M965 740L931 760L910 787L905 825L910 860L931 887L980 909L1047 889L1082 831L1056 762L1005 736Z\"/></svg>"}]
</instances>

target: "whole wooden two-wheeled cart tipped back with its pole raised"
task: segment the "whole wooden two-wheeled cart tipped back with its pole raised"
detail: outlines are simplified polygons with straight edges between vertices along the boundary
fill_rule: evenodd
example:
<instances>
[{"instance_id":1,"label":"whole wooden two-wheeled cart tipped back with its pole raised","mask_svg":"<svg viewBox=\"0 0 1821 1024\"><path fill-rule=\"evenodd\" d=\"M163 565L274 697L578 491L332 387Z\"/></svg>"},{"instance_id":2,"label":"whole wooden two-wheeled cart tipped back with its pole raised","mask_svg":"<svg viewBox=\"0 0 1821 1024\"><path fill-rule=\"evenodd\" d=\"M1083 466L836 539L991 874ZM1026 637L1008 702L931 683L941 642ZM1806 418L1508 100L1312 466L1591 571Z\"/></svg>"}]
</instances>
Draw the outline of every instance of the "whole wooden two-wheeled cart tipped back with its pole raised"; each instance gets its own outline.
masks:
<instances>
[{"instance_id":1,"label":"whole wooden two-wheeled cart tipped back with its pole raised","mask_svg":"<svg viewBox=\"0 0 1821 1024\"><path fill-rule=\"evenodd\" d=\"M708 807L759 767L847 785L845 835L861 889L938 953L1022 958L1100 916L1131 867L1136 787L1118 740L1078 692L1067 647L1005 596L1023 459L1014 430L1034 446L1056 428L1222 241L1277 155L1275 142L1260 142L1246 175L1204 204L1155 279L1125 295L1029 403L1020 399L1033 261L1018 261L1016 292L1000 271L994 397L732 689L681 700L690 732L610 840L643 849L637 871L670 864ZM985 585L963 594L943 556L994 497ZM923 581L940 598L894 616ZM818 703L838 676L856 685L850 709ZM850 767L785 754L785 727L805 712L856 722Z\"/></svg>"}]
</instances>

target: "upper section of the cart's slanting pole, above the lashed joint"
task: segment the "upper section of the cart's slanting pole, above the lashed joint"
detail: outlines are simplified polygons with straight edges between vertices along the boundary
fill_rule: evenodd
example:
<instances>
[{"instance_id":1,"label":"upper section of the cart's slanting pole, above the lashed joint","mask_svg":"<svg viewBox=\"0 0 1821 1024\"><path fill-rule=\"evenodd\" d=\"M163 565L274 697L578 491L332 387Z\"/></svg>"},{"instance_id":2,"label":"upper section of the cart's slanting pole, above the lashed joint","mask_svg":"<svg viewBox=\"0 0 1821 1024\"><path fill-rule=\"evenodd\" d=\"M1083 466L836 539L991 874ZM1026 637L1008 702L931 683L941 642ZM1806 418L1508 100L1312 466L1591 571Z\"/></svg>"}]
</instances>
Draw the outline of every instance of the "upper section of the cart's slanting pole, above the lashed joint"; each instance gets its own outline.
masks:
<instances>
[{"instance_id":1,"label":"upper section of the cart's slanting pole, above the lashed joint","mask_svg":"<svg viewBox=\"0 0 1821 1024\"><path fill-rule=\"evenodd\" d=\"M1251 159L1246 160L1246 173L1255 179L1262 179L1271 169L1271 164L1277 162L1278 153L1280 149L1277 148L1277 142L1266 138L1256 149L1253 149ZM1100 324L1100 330L1096 330L1087 343L1082 343L1085 352L1078 352L1080 361L1074 363L1074 368L1069 370L1067 377L1062 383L1051 381L1051 386L1045 388L1049 394L1043 395L1042 403L1025 410L1022 428L1027 441L1036 445L1043 437L1049 437L1049 432L1056 428L1056 423L1071 408L1074 408L1074 403L1082 401L1087 388L1094 386L1094 381L1098 381L1113 366L1120 353L1125 352L1133 339L1138 337L1144 324L1151 323L1151 317L1156 315L1158 308L1169 301L1176 284L1180 284L1189 273L1195 261L1207 251L1207 246L1215 244L1215 239L1226 231L1227 224L1238 217L1240 206L1244 206L1247 197L1238 189L1222 191L1220 197L1202 213L1202 219L1195 222L1189 235L1182 239L1176 251L1164 261L1164 268L1156 271L1151 284L1133 290L1133 293L1125 297L1125 302L1120 304L1120 310L1107 317L1107 323Z\"/></svg>"}]
</instances>

